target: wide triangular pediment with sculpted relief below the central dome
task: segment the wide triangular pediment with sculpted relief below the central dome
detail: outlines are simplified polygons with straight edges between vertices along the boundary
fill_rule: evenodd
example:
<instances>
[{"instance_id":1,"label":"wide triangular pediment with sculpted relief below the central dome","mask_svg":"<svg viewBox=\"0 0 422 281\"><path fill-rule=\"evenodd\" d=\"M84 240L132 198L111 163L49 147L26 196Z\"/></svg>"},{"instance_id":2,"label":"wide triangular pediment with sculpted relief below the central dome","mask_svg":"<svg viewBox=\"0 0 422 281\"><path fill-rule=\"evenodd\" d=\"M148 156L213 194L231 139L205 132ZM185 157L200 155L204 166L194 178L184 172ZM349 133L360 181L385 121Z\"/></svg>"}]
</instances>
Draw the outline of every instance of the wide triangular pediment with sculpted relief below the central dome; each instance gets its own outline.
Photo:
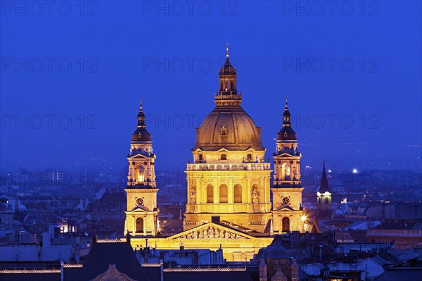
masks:
<instances>
[{"instance_id":1,"label":"wide triangular pediment with sculpted relief below the central dome","mask_svg":"<svg viewBox=\"0 0 422 281\"><path fill-rule=\"evenodd\" d=\"M205 223L191 230L178 233L169 239L204 239L204 240L238 240L253 239L254 237L247 235L238 230L234 230L217 223Z\"/></svg>"}]
</instances>

